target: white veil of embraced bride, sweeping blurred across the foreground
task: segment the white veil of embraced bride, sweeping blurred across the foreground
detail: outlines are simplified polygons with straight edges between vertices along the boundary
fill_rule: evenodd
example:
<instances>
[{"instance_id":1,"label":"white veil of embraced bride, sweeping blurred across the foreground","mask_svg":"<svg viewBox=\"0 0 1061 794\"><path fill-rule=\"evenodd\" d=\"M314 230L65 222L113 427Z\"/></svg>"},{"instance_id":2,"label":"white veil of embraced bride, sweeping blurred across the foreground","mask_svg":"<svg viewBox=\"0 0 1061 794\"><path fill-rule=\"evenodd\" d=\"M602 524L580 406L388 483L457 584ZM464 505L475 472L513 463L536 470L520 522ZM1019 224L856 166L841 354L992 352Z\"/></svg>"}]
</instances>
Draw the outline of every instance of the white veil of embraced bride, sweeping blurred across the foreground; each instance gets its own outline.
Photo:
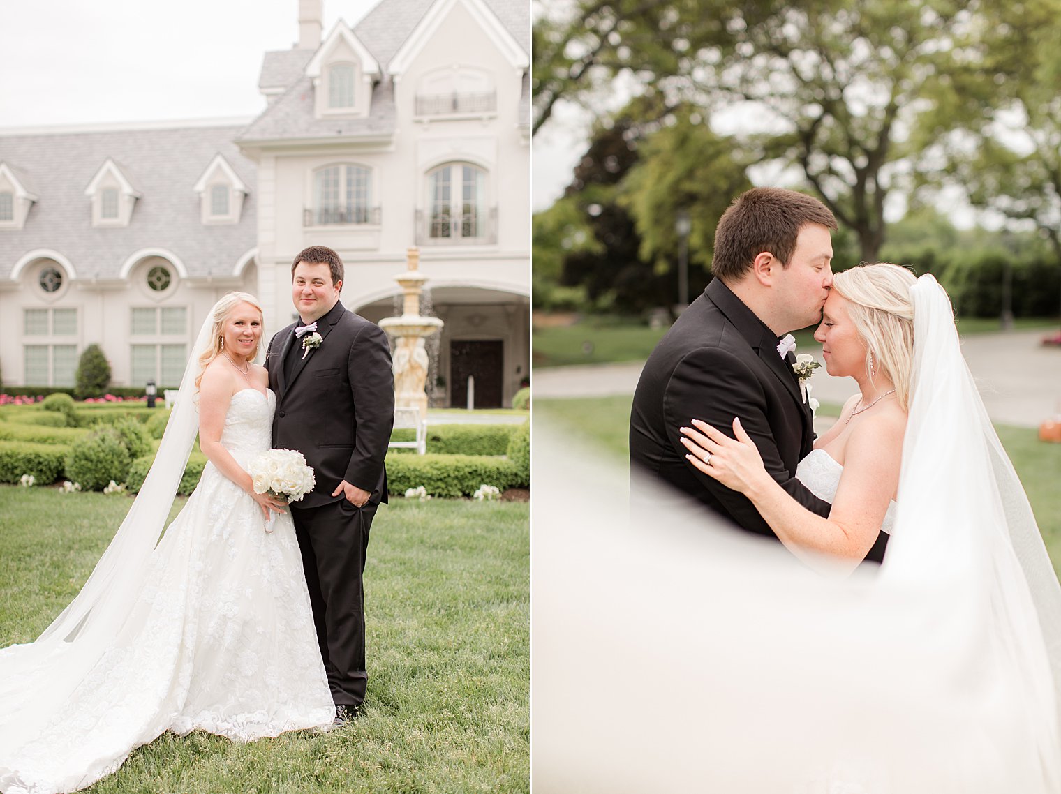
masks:
<instances>
[{"instance_id":1,"label":"white veil of embraced bride, sweeping blurred across the foreground","mask_svg":"<svg viewBox=\"0 0 1061 794\"><path fill-rule=\"evenodd\" d=\"M1061 587L932 277L884 564L814 574L538 420L533 780L552 792L1061 791ZM671 502L672 499L661 499Z\"/></svg>"}]
</instances>

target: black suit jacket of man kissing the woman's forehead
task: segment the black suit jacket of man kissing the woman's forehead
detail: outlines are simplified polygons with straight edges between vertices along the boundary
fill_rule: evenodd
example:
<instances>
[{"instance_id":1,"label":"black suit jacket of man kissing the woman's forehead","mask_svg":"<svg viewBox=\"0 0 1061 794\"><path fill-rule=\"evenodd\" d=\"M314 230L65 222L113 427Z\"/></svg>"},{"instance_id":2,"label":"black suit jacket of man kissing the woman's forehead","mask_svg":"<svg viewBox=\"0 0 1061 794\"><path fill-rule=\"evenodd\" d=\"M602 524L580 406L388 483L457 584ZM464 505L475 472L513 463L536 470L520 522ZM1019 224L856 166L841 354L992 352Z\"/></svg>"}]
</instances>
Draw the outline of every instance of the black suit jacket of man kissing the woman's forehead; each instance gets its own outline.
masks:
<instances>
[{"instance_id":1,"label":"black suit jacket of man kissing the woman's forehead","mask_svg":"<svg viewBox=\"0 0 1061 794\"><path fill-rule=\"evenodd\" d=\"M658 499L666 486L743 529L776 537L744 494L697 471L678 428L702 419L733 436L733 418L759 447L766 471L799 504L828 516L830 504L798 479L796 466L814 444L813 416L793 371L796 357L778 353L778 337L721 281L714 279L653 351L630 412L631 504ZM653 488L656 486L656 488ZM645 494L650 489L650 494ZM665 491L664 491L665 493ZM647 505L646 505L647 507ZM881 534L869 560L880 561Z\"/></svg>"}]
</instances>

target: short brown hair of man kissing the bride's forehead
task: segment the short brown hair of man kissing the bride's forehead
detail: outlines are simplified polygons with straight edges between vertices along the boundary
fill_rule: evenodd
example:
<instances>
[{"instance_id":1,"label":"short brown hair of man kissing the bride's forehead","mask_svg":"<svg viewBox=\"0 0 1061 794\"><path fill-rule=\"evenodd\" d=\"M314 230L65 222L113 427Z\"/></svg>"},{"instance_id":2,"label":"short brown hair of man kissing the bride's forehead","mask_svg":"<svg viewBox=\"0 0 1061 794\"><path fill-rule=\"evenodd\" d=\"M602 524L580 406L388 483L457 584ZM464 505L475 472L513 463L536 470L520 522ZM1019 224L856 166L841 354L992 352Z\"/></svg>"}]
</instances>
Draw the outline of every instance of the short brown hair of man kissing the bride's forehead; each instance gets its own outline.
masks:
<instances>
[{"instance_id":1,"label":"short brown hair of man kissing the bride's forehead","mask_svg":"<svg viewBox=\"0 0 1061 794\"><path fill-rule=\"evenodd\" d=\"M737 196L718 220L711 270L724 283L744 278L763 251L787 267L799 230L807 224L836 228L833 213L814 196L782 188L752 188Z\"/></svg>"}]
</instances>

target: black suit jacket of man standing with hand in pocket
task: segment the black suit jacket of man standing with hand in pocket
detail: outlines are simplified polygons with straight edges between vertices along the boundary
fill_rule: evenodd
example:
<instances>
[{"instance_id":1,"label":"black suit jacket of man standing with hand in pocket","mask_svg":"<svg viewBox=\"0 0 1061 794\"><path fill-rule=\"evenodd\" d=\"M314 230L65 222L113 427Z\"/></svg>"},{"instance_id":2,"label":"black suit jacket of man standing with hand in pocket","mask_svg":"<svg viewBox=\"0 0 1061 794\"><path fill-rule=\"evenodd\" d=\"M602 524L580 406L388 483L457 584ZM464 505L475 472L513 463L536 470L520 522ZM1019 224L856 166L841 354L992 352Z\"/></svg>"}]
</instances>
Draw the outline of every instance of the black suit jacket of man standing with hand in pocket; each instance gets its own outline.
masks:
<instances>
[{"instance_id":1,"label":"black suit jacket of man standing with hand in pocket","mask_svg":"<svg viewBox=\"0 0 1061 794\"><path fill-rule=\"evenodd\" d=\"M317 320L323 341L301 357L292 323L278 331L265 355L269 388L276 392L273 446L297 449L313 466L316 486L297 507L319 507L340 480L387 500L383 459L394 426L395 391L390 345L383 330L342 303ZM305 337L303 337L305 338ZM291 377L284 359L295 356Z\"/></svg>"}]
</instances>

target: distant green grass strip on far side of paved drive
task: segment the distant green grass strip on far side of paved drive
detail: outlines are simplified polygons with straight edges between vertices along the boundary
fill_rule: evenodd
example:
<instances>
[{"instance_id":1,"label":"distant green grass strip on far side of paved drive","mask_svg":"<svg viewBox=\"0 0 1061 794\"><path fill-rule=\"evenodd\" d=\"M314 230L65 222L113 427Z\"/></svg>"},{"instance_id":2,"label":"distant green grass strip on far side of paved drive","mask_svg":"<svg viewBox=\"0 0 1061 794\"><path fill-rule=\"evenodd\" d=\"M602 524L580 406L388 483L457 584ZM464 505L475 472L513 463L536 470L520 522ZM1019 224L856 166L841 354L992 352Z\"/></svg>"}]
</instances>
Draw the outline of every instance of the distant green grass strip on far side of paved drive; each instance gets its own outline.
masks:
<instances>
[{"instance_id":1,"label":"distant green grass strip on far side of paved drive","mask_svg":"<svg viewBox=\"0 0 1061 794\"><path fill-rule=\"evenodd\" d=\"M1056 329L1058 321L1042 317L1019 317L1014 330ZM998 331L998 319L967 317L958 321L961 334ZM650 329L644 322L621 317L585 317L573 325L535 328L532 335L535 367L564 367L575 364L643 361L663 338L666 329ZM796 333L800 349L820 348L814 329Z\"/></svg>"}]
</instances>

